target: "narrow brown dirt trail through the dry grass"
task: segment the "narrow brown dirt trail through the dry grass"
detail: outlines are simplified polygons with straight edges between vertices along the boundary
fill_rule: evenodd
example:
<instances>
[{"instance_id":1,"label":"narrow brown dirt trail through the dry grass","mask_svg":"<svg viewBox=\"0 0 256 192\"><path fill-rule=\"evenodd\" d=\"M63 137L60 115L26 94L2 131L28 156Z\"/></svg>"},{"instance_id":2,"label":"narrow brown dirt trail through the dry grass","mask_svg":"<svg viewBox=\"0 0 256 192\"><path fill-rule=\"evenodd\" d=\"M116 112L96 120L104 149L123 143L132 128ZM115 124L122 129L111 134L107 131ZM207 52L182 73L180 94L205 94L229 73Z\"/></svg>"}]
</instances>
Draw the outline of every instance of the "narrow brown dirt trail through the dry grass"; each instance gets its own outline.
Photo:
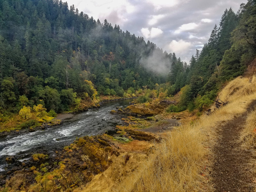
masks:
<instances>
[{"instance_id":1,"label":"narrow brown dirt trail through the dry grass","mask_svg":"<svg viewBox=\"0 0 256 192\"><path fill-rule=\"evenodd\" d=\"M240 116L220 129L219 146L214 148L216 162L212 167L212 183L215 192L249 192L254 191L251 166L248 164L253 156L252 151L241 148L238 143L240 132L246 123L247 114L256 107L256 100Z\"/></svg>"}]
</instances>

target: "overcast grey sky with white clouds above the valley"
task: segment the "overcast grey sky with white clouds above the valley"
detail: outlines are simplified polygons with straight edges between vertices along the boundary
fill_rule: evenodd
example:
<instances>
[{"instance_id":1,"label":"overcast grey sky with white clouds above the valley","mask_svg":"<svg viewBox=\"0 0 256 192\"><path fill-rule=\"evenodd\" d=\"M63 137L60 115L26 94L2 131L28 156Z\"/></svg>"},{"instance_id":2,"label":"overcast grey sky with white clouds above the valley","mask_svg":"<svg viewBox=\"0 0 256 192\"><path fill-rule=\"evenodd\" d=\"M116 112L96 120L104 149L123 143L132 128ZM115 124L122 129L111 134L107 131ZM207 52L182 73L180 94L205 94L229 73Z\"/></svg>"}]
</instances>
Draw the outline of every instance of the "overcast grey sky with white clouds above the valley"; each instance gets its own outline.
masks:
<instances>
[{"instance_id":1,"label":"overcast grey sky with white clouds above the valley","mask_svg":"<svg viewBox=\"0 0 256 192\"><path fill-rule=\"evenodd\" d=\"M65 1L65 0L62 0ZM67 0L103 23L119 25L159 48L175 52L181 60L190 60L196 49L207 43L225 9L234 12L246 0Z\"/></svg>"}]
</instances>

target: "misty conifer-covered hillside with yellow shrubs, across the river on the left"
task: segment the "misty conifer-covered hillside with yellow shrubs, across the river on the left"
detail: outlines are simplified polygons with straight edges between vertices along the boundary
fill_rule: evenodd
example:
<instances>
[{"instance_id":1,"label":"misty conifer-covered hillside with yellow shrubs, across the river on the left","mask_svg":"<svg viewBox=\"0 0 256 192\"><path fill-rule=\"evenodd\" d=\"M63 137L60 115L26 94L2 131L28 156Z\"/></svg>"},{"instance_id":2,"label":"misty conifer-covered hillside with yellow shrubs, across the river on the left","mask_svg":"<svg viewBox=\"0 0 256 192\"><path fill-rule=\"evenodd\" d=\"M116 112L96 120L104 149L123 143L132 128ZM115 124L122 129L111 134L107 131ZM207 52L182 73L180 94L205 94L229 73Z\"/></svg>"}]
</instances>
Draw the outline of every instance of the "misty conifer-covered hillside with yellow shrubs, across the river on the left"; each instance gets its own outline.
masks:
<instances>
[{"instance_id":1,"label":"misty conifer-covered hillside with yellow shrubs, across the river on the left","mask_svg":"<svg viewBox=\"0 0 256 192\"><path fill-rule=\"evenodd\" d=\"M154 56L165 71L177 60L61 0L1 0L0 47L0 108L15 113L36 104L60 112L77 99L152 89L167 74L152 73L148 58Z\"/></svg>"}]
</instances>

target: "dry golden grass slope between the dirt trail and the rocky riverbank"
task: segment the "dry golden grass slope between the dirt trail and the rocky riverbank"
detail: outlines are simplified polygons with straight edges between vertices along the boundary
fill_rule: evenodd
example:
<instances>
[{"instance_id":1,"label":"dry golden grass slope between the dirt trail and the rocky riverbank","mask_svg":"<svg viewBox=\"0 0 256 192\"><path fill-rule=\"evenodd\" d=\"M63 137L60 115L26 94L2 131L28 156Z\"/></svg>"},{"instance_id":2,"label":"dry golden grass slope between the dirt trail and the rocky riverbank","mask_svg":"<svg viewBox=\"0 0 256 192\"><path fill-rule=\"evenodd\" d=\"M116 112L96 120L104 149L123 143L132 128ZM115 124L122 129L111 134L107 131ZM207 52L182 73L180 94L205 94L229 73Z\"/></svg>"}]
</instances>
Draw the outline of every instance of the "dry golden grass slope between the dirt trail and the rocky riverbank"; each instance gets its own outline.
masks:
<instances>
[{"instance_id":1,"label":"dry golden grass slope between the dirt trail and the rocky riverbank","mask_svg":"<svg viewBox=\"0 0 256 192\"><path fill-rule=\"evenodd\" d=\"M132 154L126 167L120 163L122 157L114 159L108 170L97 175L84 191L212 191L207 175L214 158L212 148L217 144L216 131L256 99L256 78L234 79L219 98L230 103L210 116L203 115L167 132L148 158Z\"/></svg>"}]
</instances>

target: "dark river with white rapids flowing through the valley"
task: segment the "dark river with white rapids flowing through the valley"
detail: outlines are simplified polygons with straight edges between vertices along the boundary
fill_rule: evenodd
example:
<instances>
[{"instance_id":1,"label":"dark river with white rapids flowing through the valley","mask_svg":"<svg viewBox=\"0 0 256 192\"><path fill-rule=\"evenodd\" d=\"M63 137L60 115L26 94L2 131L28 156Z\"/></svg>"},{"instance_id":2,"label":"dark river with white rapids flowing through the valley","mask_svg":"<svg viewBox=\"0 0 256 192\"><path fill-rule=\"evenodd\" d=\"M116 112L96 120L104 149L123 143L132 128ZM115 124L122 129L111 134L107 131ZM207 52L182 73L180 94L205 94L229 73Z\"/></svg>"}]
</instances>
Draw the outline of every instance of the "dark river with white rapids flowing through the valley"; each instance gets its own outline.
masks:
<instances>
[{"instance_id":1,"label":"dark river with white rapids flowing through the valley","mask_svg":"<svg viewBox=\"0 0 256 192\"><path fill-rule=\"evenodd\" d=\"M124 124L120 114L110 114L116 107L127 107L131 100L104 102L101 108L78 113L61 125L31 133L20 133L0 138L0 174L8 170L7 156L26 161L36 152L54 152L72 143L76 137L98 135Z\"/></svg>"}]
</instances>

